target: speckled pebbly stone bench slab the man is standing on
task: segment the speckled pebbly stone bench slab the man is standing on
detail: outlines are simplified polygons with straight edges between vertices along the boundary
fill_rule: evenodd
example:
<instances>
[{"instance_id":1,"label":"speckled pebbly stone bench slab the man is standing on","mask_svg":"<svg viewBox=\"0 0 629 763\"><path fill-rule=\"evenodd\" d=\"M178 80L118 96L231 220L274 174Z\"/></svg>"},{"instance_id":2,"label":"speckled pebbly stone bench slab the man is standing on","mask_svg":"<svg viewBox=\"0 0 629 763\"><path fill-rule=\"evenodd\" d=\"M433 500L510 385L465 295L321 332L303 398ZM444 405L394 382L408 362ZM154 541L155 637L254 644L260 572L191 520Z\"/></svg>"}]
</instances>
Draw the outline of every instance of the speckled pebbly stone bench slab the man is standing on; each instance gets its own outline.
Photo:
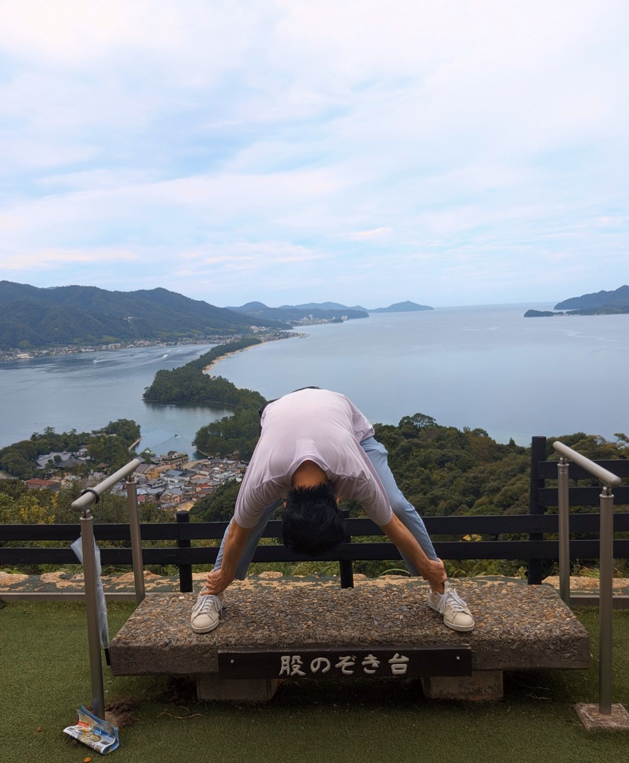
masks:
<instances>
[{"instance_id":1,"label":"speckled pebbly stone bench slab the man is standing on","mask_svg":"<svg viewBox=\"0 0 629 763\"><path fill-rule=\"evenodd\" d=\"M476 618L456 633L427 604L427 585L408 578L356 581L341 589L298 578L236 581L211 633L190 628L195 594L147 594L111 644L117 675L218 671L219 649L469 644L473 670L585 668L589 636L549 586L456 581Z\"/></svg>"}]
</instances>

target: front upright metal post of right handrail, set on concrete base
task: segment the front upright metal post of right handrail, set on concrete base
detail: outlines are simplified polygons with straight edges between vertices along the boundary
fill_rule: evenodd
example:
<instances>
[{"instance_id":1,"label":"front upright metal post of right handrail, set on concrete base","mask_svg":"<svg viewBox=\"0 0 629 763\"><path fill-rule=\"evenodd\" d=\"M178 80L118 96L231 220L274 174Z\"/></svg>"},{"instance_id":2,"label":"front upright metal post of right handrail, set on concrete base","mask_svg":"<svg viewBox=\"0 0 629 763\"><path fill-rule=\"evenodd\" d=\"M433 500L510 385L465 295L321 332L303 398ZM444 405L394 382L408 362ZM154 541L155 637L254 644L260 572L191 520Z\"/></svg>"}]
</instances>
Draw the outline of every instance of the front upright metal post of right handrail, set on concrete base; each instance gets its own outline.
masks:
<instances>
[{"instance_id":1,"label":"front upright metal post of right handrail, set on concrete base","mask_svg":"<svg viewBox=\"0 0 629 763\"><path fill-rule=\"evenodd\" d=\"M601 494L601 551L598 610L598 713L611 715L611 605L614 571L614 496Z\"/></svg>"}]
</instances>

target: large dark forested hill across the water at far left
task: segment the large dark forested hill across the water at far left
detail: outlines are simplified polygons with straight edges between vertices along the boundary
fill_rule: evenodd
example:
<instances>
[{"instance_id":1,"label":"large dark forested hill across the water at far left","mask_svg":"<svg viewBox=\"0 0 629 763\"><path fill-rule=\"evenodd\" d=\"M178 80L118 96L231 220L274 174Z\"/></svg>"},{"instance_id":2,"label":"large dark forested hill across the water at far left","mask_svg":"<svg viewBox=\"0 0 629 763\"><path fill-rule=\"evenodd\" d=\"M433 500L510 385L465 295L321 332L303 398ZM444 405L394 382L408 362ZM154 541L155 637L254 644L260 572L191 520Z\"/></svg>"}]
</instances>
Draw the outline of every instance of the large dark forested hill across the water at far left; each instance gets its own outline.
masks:
<instances>
[{"instance_id":1,"label":"large dark forested hill across the water at far left","mask_svg":"<svg viewBox=\"0 0 629 763\"><path fill-rule=\"evenodd\" d=\"M37 288L0 281L0 349L179 340L244 333L250 317L174 291ZM257 319L260 326L277 326Z\"/></svg>"}]
</instances>

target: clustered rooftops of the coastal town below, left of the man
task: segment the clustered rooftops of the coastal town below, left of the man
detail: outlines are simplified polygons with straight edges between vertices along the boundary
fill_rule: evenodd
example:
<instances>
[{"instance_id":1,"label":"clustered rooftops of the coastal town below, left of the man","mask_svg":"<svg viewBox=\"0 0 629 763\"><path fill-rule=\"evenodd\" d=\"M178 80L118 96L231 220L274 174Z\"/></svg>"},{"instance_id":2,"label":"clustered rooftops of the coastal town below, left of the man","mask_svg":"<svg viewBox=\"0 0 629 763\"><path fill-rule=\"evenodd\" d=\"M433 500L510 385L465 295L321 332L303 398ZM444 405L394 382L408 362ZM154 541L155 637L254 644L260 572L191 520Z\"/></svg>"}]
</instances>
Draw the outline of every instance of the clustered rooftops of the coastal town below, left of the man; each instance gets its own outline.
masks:
<instances>
[{"instance_id":1,"label":"clustered rooftops of the coastal town below, left of the man","mask_svg":"<svg viewBox=\"0 0 629 763\"><path fill-rule=\"evenodd\" d=\"M174 450L162 456L143 455L150 457L135 472L137 501L139 504L153 502L165 512L191 510L199 498L211 494L226 482L242 481L247 469L247 462L238 459L205 457L191 460L188 453ZM76 467L88 464L86 449L46 453L37 459L37 468L44 476L24 483L31 490L56 492L80 480L85 488L90 488L105 479L107 472L105 464L96 464L87 478L73 473ZM111 493L126 496L124 480L118 482Z\"/></svg>"}]
</instances>

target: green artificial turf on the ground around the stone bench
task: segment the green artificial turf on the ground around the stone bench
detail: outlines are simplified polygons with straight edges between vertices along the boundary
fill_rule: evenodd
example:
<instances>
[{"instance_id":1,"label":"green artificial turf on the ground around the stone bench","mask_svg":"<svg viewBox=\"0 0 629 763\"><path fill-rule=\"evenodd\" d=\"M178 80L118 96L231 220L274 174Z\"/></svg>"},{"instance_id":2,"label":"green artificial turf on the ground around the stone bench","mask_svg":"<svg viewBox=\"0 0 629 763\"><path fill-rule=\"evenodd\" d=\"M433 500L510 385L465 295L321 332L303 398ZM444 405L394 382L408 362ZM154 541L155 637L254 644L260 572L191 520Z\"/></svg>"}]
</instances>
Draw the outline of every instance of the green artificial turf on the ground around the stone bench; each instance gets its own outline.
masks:
<instances>
[{"instance_id":1,"label":"green artificial turf on the ground around the stone bench","mask_svg":"<svg viewBox=\"0 0 629 763\"><path fill-rule=\"evenodd\" d=\"M111 633L133 607L109 604ZM598 610L580 610L597 652ZM629 709L629 611L614 613L614 702ZM62 733L91 701L82 604L0 608L0 761L79 763L98 753ZM133 697L119 763L170 761L457 761L621 763L629 733L586 732L573 703L598 700L598 663L588 671L505 674L496 703L424 699L418 681L285 683L269 703L198 703L192 684L115 678L105 701Z\"/></svg>"}]
</instances>

